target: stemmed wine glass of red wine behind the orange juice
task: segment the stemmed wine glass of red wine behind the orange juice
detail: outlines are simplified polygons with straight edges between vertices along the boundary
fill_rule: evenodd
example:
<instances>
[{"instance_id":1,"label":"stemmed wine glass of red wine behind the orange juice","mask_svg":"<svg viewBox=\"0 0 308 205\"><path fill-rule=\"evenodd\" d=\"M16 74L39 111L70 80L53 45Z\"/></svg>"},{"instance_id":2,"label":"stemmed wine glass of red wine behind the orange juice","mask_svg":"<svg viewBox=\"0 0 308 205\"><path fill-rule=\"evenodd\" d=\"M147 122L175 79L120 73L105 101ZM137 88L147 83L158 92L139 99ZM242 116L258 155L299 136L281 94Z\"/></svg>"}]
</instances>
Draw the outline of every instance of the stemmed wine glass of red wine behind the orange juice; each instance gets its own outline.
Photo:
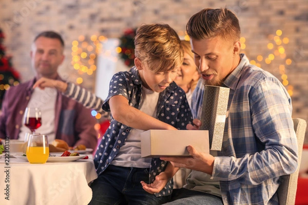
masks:
<instances>
[{"instance_id":1,"label":"stemmed wine glass of red wine behind the orange juice","mask_svg":"<svg viewBox=\"0 0 308 205\"><path fill-rule=\"evenodd\" d=\"M27 107L24 114L24 125L27 126L32 133L42 125L42 112L40 108Z\"/></svg>"}]
</instances>

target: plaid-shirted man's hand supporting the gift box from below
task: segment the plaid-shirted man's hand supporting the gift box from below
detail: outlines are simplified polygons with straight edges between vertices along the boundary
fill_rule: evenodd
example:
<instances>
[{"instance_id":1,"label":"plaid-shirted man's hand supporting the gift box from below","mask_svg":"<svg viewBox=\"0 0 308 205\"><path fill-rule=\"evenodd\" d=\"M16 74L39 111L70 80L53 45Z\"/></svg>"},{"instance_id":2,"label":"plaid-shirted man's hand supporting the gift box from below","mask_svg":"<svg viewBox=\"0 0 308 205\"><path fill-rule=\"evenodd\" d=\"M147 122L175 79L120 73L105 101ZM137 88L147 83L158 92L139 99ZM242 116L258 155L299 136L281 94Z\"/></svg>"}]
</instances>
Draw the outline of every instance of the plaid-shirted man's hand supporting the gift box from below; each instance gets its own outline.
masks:
<instances>
[{"instance_id":1,"label":"plaid-shirted man's hand supporting the gift box from below","mask_svg":"<svg viewBox=\"0 0 308 205\"><path fill-rule=\"evenodd\" d=\"M160 159L170 161L174 167L187 168L211 175L215 157L204 152L198 152L192 146L188 146L187 150L191 155L189 157L160 157Z\"/></svg>"}]
</instances>

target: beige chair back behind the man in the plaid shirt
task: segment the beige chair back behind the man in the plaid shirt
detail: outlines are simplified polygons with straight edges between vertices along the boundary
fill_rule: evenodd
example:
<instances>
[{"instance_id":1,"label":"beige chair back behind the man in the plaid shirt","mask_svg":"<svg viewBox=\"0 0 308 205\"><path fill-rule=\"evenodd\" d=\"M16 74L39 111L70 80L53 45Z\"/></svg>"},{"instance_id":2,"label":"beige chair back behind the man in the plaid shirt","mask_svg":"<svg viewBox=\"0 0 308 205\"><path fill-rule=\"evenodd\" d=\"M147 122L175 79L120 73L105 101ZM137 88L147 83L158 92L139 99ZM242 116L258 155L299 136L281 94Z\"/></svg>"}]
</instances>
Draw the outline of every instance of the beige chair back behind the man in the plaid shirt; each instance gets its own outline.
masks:
<instances>
[{"instance_id":1,"label":"beige chair back behind the man in the plaid shirt","mask_svg":"<svg viewBox=\"0 0 308 205\"><path fill-rule=\"evenodd\" d=\"M281 177L281 184L277 190L280 205L295 204L298 171L300 167L307 124L304 119L300 118L293 118L293 123L298 143L298 166L293 174L284 175Z\"/></svg>"}]
</instances>

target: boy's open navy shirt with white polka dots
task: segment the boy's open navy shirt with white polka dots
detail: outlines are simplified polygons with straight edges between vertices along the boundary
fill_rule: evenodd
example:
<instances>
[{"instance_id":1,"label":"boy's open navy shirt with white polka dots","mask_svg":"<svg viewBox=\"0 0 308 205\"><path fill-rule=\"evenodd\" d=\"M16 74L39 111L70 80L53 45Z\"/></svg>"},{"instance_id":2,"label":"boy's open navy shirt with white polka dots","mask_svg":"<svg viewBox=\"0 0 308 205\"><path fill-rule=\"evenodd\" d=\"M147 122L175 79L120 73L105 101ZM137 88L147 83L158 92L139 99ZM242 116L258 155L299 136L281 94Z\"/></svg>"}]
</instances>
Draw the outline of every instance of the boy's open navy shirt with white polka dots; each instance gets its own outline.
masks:
<instances>
[{"instance_id":1,"label":"boy's open navy shirt with white polka dots","mask_svg":"<svg viewBox=\"0 0 308 205\"><path fill-rule=\"evenodd\" d=\"M142 102L142 81L135 67L131 68L129 72L119 72L112 77L109 94L103 104L103 109L107 112L110 111L108 100L114 95L125 96L130 106L140 109ZM185 92L174 82L159 95L157 119L179 130L185 130L186 125L192 121ZM94 157L94 165L99 175L104 172L115 155L119 153L120 148L125 144L125 139L129 135L130 130L131 127L114 120L111 113L110 126L103 136ZM166 161L162 161L159 158L151 159L149 183L154 181L156 175L165 170L166 163ZM170 180L156 196L170 195L172 187Z\"/></svg>"}]
</instances>

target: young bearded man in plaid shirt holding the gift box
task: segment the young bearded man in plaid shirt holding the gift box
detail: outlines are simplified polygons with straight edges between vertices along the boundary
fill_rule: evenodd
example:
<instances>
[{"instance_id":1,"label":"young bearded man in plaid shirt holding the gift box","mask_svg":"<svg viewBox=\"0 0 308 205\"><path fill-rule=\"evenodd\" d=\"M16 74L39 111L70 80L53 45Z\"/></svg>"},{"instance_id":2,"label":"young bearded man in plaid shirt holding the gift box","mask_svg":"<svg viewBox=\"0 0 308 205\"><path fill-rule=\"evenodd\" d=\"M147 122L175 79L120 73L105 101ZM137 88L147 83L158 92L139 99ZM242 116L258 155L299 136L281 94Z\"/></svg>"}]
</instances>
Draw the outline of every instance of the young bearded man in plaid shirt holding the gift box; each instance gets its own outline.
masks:
<instances>
[{"instance_id":1,"label":"young bearded man in plaid shirt holding the gift box","mask_svg":"<svg viewBox=\"0 0 308 205\"><path fill-rule=\"evenodd\" d=\"M167 204L279 204L281 176L298 166L291 97L272 74L240 54L240 26L228 9L203 9L187 23L202 78L192 96L194 126L201 125L204 85L230 89L221 151L161 157L192 169Z\"/></svg>"}]
</instances>

